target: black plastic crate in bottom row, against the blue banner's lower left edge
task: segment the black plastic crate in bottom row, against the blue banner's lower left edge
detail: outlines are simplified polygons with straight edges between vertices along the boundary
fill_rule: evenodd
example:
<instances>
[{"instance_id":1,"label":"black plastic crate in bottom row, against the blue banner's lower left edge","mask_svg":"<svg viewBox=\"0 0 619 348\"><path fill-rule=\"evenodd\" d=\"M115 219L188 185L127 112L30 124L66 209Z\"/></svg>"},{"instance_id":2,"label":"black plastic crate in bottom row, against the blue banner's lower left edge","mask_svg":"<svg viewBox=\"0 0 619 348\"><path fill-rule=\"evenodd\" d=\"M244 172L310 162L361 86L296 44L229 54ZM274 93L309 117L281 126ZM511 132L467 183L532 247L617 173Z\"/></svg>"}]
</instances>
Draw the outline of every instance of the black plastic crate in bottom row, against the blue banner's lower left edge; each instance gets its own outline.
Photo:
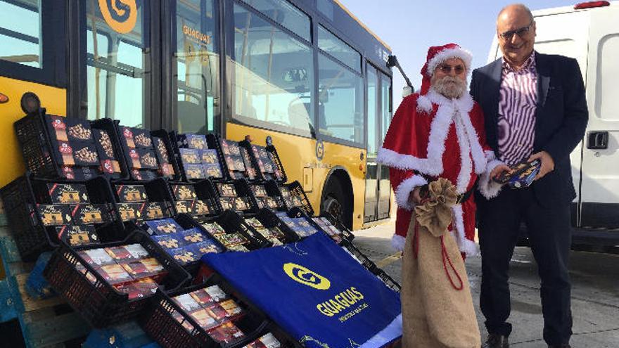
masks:
<instances>
[{"instance_id":1,"label":"black plastic crate in bottom row, against the blue banner's lower left edge","mask_svg":"<svg viewBox=\"0 0 619 348\"><path fill-rule=\"evenodd\" d=\"M226 294L236 297L234 291L231 291L226 283L223 281L212 281L215 278L220 279L220 277L214 276L210 278L207 284L196 285L181 291L163 292L158 290L152 299L151 309L146 311L140 318L144 331L153 337L163 348L245 347L246 344L260 337L260 333L269 325L269 322L264 315L258 311L253 311L243 301L241 303L237 301L237 303L243 307L245 315L234 321L234 325L245 333L245 337L228 344L222 344L212 340L206 330L201 328L191 316L182 311L179 305L172 300L174 296L183 295L215 284L219 285ZM178 321L174 316L180 316L181 321Z\"/></svg>"}]
</instances>

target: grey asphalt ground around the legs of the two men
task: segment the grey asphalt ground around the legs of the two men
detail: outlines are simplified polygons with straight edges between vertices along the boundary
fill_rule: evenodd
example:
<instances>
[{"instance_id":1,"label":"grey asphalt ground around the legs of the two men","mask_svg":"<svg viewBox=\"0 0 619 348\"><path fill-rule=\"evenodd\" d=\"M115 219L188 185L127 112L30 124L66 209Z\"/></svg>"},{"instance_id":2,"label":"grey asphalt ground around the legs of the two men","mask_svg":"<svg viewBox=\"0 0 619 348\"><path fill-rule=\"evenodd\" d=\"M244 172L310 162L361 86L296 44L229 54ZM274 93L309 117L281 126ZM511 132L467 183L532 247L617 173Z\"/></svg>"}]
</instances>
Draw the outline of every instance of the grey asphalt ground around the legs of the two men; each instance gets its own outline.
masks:
<instances>
[{"instance_id":1,"label":"grey asphalt ground around the legs of the two men","mask_svg":"<svg viewBox=\"0 0 619 348\"><path fill-rule=\"evenodd\" d=\"M390 276L400 282L402 259L390 246L395 220L355 231L354 243ZM395 254L395 255L394 255ZM485 340L483 315L479 309L480 257L466 259L473 304ZM572 279L572 347L619 348L619 254L570 252ZM510 347L545 348L542 340L542 304L537 265L528 247L516 247L510 266Z\"/></svg>"}]
</instances>

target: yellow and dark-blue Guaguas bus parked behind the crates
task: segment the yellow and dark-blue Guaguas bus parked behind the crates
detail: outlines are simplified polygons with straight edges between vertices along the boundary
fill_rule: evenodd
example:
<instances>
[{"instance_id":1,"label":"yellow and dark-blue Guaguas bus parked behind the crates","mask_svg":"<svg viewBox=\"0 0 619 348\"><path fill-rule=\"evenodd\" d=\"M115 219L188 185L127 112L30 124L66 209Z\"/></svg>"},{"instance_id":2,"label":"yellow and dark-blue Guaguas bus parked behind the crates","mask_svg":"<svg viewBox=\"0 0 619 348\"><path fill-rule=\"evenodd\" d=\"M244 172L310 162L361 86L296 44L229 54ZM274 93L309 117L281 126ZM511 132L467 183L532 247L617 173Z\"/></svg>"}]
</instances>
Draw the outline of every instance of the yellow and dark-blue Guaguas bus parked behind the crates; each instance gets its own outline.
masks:
<instances>
[{"instance_id":1,"label":"yellow and dark-blue Guaguas bus parked behind the crates","mask_svg":"<svg viewBox=\"0 0 619 348\"><path fill-rule=\"evenodd\" d=\"M390 48L337 0L0 0L0 186L23 172L13 122L54 115L267 136L317 212L386 219L375 162L392 114Z\"/></svg>"}]
</instances>

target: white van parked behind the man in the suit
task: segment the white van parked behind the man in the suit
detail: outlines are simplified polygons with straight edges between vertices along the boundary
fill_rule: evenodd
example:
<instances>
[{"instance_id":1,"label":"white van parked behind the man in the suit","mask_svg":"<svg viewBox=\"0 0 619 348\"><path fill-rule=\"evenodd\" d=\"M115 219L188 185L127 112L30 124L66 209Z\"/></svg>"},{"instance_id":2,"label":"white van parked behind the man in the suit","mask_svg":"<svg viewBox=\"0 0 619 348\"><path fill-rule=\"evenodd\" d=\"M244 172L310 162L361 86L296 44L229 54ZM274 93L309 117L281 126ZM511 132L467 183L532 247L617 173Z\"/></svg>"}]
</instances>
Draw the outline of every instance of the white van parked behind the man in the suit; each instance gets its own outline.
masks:
<instances>
[{"instance_id":1,"label":"white van parked behind the man in the suit","mask_svg":"<svg viewBox=\"0 0 619 348\"><path fill-rule=\"evenodd\" d=\"M533 11L535 50L578 60L589 124L570 155L573 243L619 245L619 1ZM488 62L501 57L496 35Z\"/></svg>"}]
</instances>

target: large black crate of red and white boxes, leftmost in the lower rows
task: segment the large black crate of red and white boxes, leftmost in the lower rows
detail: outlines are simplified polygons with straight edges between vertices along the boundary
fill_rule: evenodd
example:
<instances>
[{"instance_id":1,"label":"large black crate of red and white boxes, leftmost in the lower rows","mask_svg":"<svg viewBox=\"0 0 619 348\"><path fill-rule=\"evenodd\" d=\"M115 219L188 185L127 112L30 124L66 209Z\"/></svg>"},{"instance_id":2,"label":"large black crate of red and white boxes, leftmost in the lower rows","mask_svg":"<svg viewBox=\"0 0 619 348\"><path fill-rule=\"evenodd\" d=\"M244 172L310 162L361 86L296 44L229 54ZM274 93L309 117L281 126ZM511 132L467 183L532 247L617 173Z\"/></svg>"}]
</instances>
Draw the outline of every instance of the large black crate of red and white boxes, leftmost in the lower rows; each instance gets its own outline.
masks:
<instances>
[{"instance_id":1,"label":"large black crate of red and white boxes, leftmost in the lower rows","mask_svg":"<svg viewBox=\"0 0 619 348\"><path fill-rule=\"evenodd\" d=\"M148 238L146 233L141 231L135 231L122 242L106 243L95 248L79 248L77 250L115 247L132 243L142 245L148 250L151 257L155 257L164 266L167 275L160 281L160 287L174 291L191 279L189 273L174 262L159 245ZM86 271L84 273L79 271L78 265L84 267ZM88 273L91 277L96 278L94 283L87 278ZM113 285L105 281L103 276L79 256L76 249L65 243L61 243L60 247L53 253L43 274L53 290L63 297L94 328L105 328L115 323L136 318L148 304L149 297L129 299L127 294L117 292Z\"/></svg>"}]
</instances>

